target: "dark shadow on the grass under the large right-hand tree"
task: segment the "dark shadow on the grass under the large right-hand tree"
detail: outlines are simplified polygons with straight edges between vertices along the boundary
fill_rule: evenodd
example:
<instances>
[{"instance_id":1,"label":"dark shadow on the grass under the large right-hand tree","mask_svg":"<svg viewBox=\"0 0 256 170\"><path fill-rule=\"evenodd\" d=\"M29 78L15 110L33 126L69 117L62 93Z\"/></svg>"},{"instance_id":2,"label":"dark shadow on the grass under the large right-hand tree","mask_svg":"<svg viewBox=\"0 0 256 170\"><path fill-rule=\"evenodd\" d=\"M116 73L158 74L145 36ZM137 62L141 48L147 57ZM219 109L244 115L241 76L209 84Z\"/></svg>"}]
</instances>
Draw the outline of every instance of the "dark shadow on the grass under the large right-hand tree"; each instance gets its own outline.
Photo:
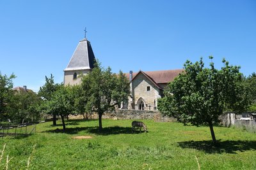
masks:
<instances>
[{"instance_id":1,"label":"dark shadow on the grass under the large right-hand tree","mask_svg":"<svg viewBox=\"0 0 256 170\"><path fill-rule=\"evenodd\" d=\"M256 141L218 141L217 145L212 145L212 141L184 141L179 142L181 148L193 148L205 153L236 153L246 150L256 150Z\"/></svg>"}]
</instances>

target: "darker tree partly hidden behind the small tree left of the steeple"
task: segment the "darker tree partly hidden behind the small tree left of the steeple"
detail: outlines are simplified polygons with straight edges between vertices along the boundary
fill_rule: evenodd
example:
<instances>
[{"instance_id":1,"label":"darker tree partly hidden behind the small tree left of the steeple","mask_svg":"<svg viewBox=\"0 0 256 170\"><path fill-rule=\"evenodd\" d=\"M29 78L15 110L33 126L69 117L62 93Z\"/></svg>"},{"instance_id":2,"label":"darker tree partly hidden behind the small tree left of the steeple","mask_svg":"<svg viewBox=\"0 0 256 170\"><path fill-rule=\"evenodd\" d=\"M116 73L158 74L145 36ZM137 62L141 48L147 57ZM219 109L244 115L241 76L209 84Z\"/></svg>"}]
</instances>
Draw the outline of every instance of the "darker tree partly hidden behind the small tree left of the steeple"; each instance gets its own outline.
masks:
<instances>
[{"instance_id":1,"label":"darker tree partly hidden behind the small tree left of the steeple","mask_svg":"<svg viewBox=\"0 0 256 170\"><path fill-rule=\"evenodd\" d=\"M45 76L45 84L44 86L40 87L38 95L42 97L44 101L49 101L51 100L53 92L58 90L59 86L60 84L54 83L54 76L52 76L52 74L50 78L47 78L47 76ZM56 125L56 115L52 114L52 117L53 117L52 124Z\"/></svg>"}]
</instances>

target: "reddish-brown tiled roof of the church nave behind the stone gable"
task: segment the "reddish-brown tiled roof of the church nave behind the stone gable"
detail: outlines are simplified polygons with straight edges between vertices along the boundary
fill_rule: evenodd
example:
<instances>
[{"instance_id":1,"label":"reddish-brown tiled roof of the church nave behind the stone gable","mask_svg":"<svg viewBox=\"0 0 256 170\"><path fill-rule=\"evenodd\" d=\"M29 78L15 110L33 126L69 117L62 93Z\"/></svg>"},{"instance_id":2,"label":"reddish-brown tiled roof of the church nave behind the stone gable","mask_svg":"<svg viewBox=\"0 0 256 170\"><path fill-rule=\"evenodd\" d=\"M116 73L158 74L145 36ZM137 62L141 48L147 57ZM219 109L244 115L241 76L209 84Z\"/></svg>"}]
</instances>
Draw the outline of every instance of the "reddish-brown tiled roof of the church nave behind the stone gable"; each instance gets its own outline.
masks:
<instances>
[{"instance_id":1,"label":"reddish-brown tiled roof of the church nave behind the stone gable","mask_svg":"<svg viewBox=\"0 0 256 170\"><path fill-rule=\"evenodd\" d=\"M154 81L154 83L168 83L173 81L175 77L182 73L184 69L173 69L173 70L162 70L162 71L139 71L136 73L132 73L132 80L137 76L138 73L147 74L150 80ZM125 76L129 79L129 73L125 73Z\"/></svg>"}]
</instances>

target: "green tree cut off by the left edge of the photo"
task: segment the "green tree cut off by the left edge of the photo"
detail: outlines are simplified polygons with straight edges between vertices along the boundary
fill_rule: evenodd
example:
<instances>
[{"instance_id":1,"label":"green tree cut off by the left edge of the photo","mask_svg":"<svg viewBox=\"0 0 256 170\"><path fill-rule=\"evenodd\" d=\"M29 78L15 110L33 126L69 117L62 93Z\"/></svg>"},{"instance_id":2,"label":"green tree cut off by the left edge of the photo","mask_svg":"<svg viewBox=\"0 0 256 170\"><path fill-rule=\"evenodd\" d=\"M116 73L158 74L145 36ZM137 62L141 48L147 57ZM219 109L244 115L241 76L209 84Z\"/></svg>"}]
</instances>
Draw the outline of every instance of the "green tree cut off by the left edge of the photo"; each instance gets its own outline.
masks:
<instances>
[{"instance_id":1,"label":"green tree cut off by the left edge of the photo","mask_svg":"<svg viewBox=\"0 0 256 170\"><path fill-rule=\"evenodd\" d=\"M9 77L6 74L2 75L0 73L0 117L1 119L6 118L8 113L8 108L10 108L10 101L13 96L13 78L14 74Z\"/></svg>"}]
</instances>

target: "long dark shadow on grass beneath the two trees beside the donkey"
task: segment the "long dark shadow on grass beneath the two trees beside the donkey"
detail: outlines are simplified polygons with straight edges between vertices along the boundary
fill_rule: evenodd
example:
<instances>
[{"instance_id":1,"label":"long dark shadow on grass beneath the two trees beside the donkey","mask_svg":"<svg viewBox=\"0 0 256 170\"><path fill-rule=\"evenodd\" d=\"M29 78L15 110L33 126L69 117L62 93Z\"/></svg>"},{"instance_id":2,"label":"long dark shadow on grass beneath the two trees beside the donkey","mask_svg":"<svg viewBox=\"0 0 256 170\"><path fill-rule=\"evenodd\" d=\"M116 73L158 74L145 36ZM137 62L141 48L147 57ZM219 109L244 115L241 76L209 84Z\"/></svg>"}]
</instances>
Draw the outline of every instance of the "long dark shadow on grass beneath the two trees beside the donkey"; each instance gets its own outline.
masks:
<instances>
[{"instance_id":1,"label":"long dark shadow on grass beneath the two trees beside the donkey","mask_svg":"<svg viewBox=\"0 0 256 170\"><path fill-rule=\"evenodd\" d=\"M65 131L63 129L54 129L44 132L52 132L52 133L65 133L65 134L77 134L81 131L84 131L86 133L90 134L98 134L98 135L111 135L111 134L139 134L140 131L134 131L132 132L131 127L105 127L102 129L101 132L99 132L99 127L72 127L72 128L66 128ZM142 133L142 132L141 132Z\"/></svg>"}]
</instances>

